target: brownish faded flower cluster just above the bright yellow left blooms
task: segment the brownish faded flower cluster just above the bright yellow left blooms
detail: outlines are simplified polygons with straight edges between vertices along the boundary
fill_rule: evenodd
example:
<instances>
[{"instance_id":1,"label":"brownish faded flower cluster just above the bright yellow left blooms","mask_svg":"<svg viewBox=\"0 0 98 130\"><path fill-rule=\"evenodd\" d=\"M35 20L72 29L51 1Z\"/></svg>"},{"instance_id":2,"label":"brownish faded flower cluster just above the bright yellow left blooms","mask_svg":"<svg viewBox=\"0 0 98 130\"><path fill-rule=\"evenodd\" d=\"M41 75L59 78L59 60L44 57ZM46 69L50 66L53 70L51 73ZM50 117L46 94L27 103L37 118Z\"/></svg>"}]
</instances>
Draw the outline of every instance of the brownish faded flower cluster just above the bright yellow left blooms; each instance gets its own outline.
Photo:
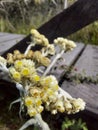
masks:
<instances>
[{"instance_id":1,"label":"brownish faded flower cluster just above the bright yellow left blooms","mask_svg":"<svg viewBox=\"0 0 98 130\"><path fill-rule=\"evenodd\" d=\"M33 63L35 63L35 66L48 66L50 63L49 58L42 55L40 51L33 52L32 50L29 50L28 53L22 54L20 51L15 50L14 53L8 53L7 54L7 63L8 64L14 64L17 60L31 60Z\"/></svg>"}]
</instances>

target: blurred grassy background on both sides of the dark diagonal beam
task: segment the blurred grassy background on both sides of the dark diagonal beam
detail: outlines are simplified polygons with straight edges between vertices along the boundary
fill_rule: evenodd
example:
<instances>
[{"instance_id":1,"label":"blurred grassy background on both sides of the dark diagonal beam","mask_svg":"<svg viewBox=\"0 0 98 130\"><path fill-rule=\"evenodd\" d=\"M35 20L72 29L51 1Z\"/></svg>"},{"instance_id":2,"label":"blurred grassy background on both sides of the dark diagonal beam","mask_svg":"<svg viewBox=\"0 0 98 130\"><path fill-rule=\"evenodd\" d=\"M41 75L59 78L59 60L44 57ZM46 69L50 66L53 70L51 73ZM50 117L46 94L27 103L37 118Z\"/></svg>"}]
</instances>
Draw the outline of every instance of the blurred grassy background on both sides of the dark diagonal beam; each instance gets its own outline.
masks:
<instances>
[{"instance_id":1,"label":"blurred grassy background on both sides of the dark diagonal beam","mask_svg":"<svg viewBox=\"0 0 98 130\"><path fill-rule=\"evenodd\" d=\"M0 0L0 32L29 34L76 0ZM68 37L98 44L98 21Z\"/></svg>"}]
</instances>

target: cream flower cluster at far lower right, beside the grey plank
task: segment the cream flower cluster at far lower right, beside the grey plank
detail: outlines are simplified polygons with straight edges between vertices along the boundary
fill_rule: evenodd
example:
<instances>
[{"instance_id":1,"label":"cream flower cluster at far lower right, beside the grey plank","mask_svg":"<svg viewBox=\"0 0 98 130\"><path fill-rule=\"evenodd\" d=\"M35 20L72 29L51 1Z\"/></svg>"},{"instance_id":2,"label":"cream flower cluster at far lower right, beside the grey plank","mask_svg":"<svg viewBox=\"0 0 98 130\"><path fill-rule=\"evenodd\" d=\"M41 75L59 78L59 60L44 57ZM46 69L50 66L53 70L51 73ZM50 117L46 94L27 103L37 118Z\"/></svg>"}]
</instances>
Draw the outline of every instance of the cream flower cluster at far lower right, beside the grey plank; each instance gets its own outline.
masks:
<instances>
[{"instance_id":1,"label":"cream flower cluster at far lower right, beside the grey plank","mask_svg":"<svg viewBox=\"0 0 98 130\"><path fill-rule=\"evenodd\" d=\"M85 103L81 98L69 99L62 96L60 98L57 97L56 100L50 104L50 106L46 104L46 108L48 111L51 111L52 114L56 114L57 112L74 114L80 110L84 110Z\"/></svg>"}]
</instances>

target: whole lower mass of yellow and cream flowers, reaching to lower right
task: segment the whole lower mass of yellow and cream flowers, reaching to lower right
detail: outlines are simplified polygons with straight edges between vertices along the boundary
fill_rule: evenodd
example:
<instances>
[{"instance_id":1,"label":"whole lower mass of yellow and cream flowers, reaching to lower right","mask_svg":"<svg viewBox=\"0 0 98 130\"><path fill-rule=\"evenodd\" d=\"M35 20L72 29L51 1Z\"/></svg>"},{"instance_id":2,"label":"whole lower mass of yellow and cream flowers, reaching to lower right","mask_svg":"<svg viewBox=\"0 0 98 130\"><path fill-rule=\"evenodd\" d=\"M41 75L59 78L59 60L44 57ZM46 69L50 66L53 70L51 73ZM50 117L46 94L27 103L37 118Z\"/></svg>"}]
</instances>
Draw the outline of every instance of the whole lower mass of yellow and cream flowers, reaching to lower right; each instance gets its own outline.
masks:
<instances>
[{"instance_id":1,"label":"whole lower mass of yellow and cream flowers, reaching to lower right","mask_svg":"<svg viewBox=\"0 0 98 130\"><path fill-rule=\"evenodd\" d=\"M30 117L41 113L45 109L52 114L65 112L73 114L83 110L85 103L82 99L59 97L59 85L53 75L40 78L36 86L30 87L29 95L25 97L25 105Z\"/></svg>"}]
</instances>

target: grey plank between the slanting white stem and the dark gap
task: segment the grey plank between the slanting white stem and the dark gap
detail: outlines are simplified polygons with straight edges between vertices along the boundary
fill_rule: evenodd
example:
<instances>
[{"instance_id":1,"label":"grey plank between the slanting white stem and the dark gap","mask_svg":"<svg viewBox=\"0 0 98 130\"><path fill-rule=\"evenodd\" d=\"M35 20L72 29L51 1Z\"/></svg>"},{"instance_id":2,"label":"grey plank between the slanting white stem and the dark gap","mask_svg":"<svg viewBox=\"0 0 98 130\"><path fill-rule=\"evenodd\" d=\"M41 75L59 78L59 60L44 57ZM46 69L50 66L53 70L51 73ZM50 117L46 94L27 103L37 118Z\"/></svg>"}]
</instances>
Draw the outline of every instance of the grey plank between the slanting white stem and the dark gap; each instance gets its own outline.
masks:
<instances>
[{"instance_id":1,"label":"grey plank between the slanting white stem and the dark gap","mask_svg":"<svg viewBox=\"0 0 98 130\"><path fill-rule=\"evenodd\" d=\"M76 44L77 44L77 47L73 51L64 53L62 57L63 60L59 61L54 67L64 66L64 65L71 66L75 62L75 60L78 58L80 53L85 48L85 45L82 43L76 43ZM50 71L50 73L55 75L58 80L61 79L61 77L64 75L64 72L65 72L64 69L59 69L59 68L57 70L52 69Z\"/></svg>"}]
</instances>

